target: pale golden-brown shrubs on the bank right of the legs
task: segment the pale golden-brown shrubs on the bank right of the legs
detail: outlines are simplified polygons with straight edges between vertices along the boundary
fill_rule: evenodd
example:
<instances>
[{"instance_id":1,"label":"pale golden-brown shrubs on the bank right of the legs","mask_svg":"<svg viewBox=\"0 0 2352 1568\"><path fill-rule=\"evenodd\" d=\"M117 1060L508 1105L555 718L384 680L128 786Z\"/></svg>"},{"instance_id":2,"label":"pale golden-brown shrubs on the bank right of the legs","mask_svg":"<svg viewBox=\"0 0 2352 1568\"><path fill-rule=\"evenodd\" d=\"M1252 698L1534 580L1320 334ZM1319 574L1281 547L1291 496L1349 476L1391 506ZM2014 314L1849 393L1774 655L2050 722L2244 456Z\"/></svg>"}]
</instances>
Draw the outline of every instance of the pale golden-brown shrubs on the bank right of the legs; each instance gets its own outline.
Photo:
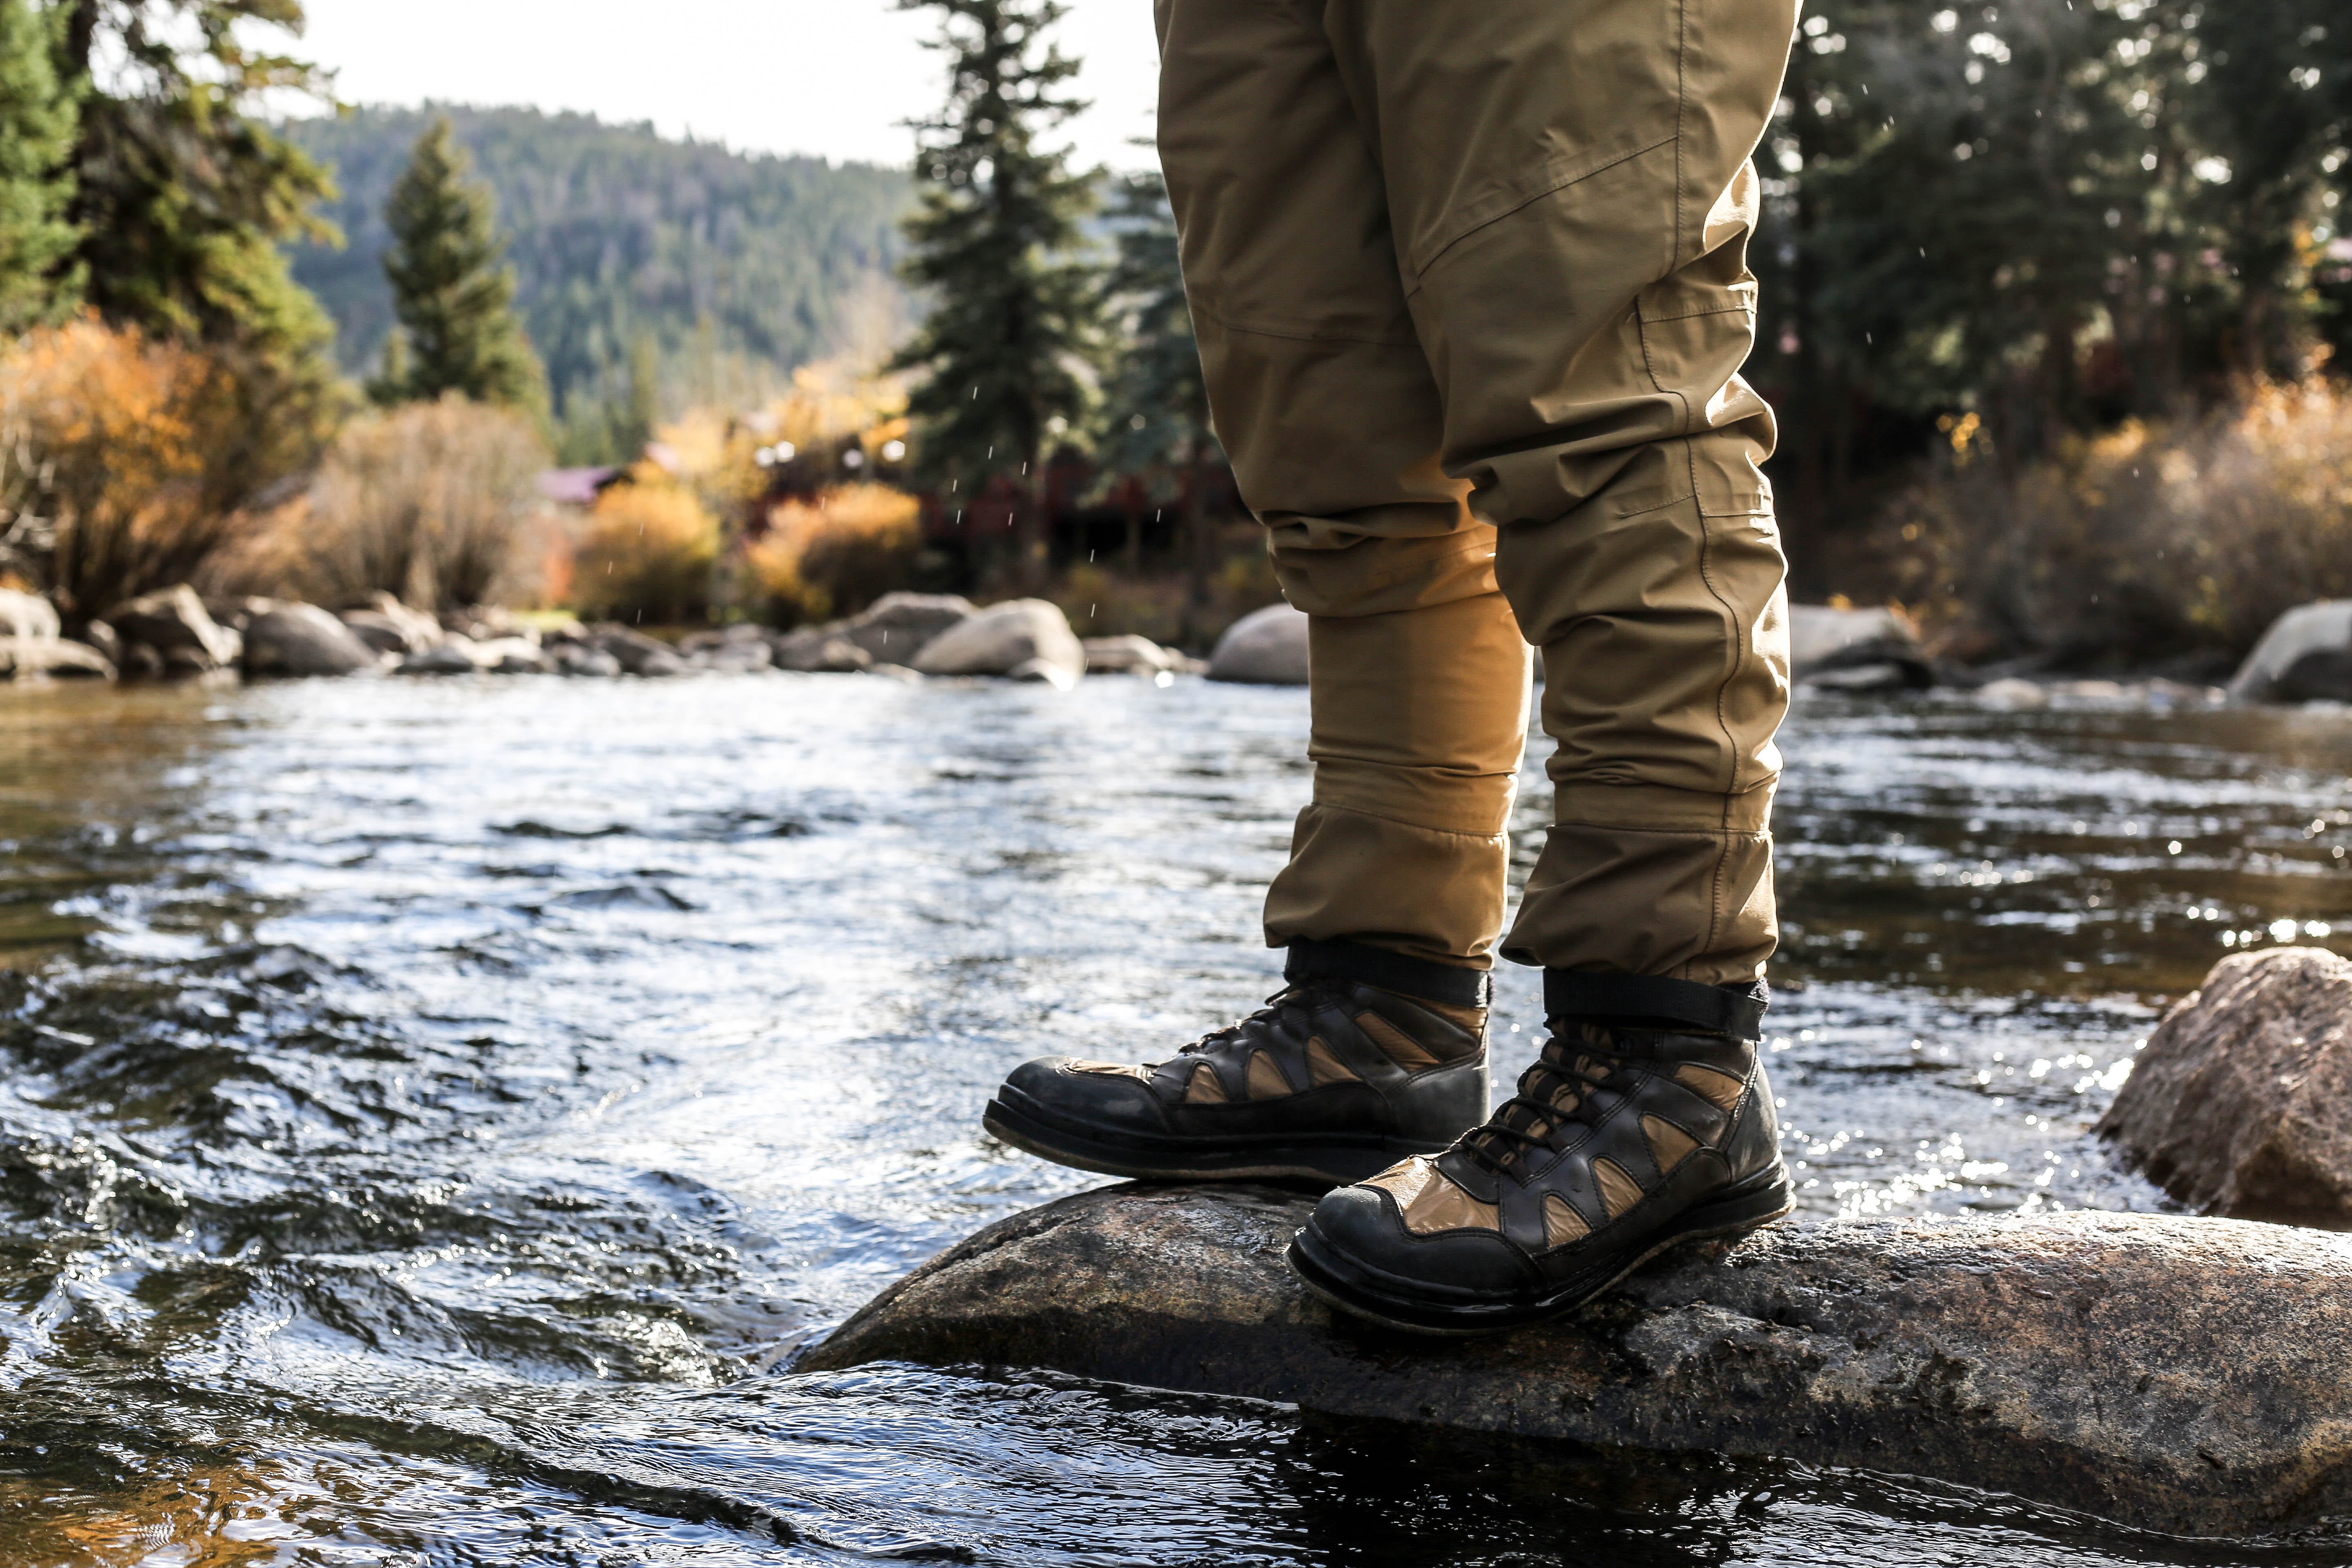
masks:
<instances>
[{"instance_id":1,"label":"pale golden-brown shrubs on the bank right of the legs","mask_svg":"<svg viewBox=\"0 0 2352 1568\"><path fill-rule=\"evenodd\" d=\"M1952 449L1879 524L1886 588L1987 651L2152 663L2244 654L2281 611L2352 597L2352 397L2263 386L2126 423L2004 475Z\"/></svg>"}]
</instances>

